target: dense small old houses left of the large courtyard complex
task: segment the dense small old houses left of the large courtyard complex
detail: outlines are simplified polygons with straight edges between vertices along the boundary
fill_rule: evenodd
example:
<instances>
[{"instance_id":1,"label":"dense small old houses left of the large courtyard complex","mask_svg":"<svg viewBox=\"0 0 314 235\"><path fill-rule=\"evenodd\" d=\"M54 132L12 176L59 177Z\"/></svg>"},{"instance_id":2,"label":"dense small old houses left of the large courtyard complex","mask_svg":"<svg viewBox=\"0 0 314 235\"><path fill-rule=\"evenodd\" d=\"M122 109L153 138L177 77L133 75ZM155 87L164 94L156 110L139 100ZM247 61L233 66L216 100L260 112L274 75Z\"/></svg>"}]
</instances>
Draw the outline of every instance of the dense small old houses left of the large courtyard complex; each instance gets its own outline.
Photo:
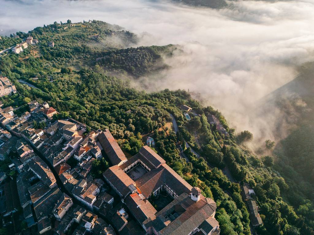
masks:
<instances>
[{"instance_id":1,"label":"dense small old houses left of the large courtyard complex","mask_svg":"<svg viewBox=\"0 0 314 235\"><path fill-rule=\"evenodd\" d=\"M7 200L9 203L0 198L5 205L2 215L9 221L3 224L12 224L12 215L21 207L27 226L37 225L40 234L54 230L61 235L74 223L79 224L78 232L82 234L90 231L115 234L108 223L93 214L101 208L110 209L114 202L104 191L104 182L89 175L92 162L102 157L101 145L96 143L102 131L86 132L86 125L73 119L53 121L57 111L46 102L31 101L28 105L30 112L20 117L12 107L0 110L4 127L0 129L0 159L10 158L12 164L8 167L19 174L16 182L10 180L5 184L8 187L4 187L8 189L5 195L17 197ZM45 156L46 162L34 150ZM78 161L72 168L67 164L70 157ZM47 164L53 167L71 196L60 191ZM73 204L72 198L84 208Z\"/></svg>"}]
</instances>

